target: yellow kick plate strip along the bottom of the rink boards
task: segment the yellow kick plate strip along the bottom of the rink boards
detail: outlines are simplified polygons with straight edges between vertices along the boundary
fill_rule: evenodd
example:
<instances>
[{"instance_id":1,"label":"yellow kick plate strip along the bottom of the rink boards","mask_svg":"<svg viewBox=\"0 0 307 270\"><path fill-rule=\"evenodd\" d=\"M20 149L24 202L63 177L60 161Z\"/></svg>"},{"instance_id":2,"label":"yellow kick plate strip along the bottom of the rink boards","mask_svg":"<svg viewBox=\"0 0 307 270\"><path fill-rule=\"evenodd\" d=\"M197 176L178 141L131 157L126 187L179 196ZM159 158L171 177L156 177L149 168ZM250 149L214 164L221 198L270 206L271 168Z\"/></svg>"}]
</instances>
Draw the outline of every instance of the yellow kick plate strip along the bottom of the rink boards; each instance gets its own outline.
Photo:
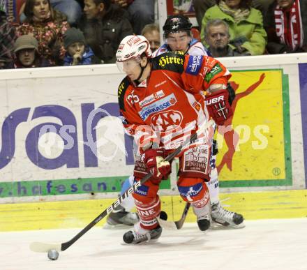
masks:
<instances>
[{"instance_id":1,"label":"yellow kick plate strip along the bottom of the rink boards","mask_svg":"<svg viewBox=\"0 0 307 270\"><path fill-rule=\"evenodd\" d=\"M307 217L307 190L221 194L220 200L226 209L242 213L246 220ZM0 232L82 228L112 202L114 199L0 204ZM169 220L179 220L185 204L179 196L161 197L161 209ZM195 222L192 209L186 222Z\"/></svg>"}]
</instances>

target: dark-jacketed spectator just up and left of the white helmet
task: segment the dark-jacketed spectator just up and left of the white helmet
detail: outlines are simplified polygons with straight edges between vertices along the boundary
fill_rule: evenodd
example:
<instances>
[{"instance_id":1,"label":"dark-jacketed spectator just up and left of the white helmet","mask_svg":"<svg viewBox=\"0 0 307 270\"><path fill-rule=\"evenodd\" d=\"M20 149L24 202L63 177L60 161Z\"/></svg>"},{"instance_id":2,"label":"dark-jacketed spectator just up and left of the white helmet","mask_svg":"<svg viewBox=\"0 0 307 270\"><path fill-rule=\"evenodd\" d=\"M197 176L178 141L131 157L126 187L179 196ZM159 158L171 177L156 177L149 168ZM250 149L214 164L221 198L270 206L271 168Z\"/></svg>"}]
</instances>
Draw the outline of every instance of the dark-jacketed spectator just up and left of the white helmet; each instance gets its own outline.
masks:
<instances>
[{"instance_id":1,"label":"dark-jacketed spectator just up and left of the white helmet","mask_svg":"<svg viewBox=\"0 0 307 270\"><path fill-rule=\"evenodd\" d=\"M121 40L133 34L126 10L111 0L84 0L84 15L77 23L86 43L103 63L115 63Z\"/></svg>"}]
</instances>

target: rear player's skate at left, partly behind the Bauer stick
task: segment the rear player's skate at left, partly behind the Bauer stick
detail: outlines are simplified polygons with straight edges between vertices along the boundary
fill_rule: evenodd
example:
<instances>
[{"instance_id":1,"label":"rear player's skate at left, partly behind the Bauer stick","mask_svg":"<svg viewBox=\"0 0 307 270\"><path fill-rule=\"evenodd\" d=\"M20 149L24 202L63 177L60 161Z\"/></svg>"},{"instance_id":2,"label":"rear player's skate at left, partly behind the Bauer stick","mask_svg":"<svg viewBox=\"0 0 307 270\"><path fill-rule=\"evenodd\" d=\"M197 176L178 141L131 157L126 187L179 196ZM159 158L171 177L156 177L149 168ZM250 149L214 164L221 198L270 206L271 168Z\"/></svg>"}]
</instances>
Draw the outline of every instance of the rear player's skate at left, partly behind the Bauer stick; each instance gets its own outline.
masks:
<instances>
[{"instance_id":1,"label":"rear player's skate at left, partly behind the Bauer stick","mask_svg":"<svg viewBox=\"0 0 307 270\"><path fill-rule=\"evenodd\" d=\"M123 207L120 205L107 216L107 224L109 225L128 225L132 226L139 221L139 216L137 213L127 212Z\"/></svg>"}]
</instances>

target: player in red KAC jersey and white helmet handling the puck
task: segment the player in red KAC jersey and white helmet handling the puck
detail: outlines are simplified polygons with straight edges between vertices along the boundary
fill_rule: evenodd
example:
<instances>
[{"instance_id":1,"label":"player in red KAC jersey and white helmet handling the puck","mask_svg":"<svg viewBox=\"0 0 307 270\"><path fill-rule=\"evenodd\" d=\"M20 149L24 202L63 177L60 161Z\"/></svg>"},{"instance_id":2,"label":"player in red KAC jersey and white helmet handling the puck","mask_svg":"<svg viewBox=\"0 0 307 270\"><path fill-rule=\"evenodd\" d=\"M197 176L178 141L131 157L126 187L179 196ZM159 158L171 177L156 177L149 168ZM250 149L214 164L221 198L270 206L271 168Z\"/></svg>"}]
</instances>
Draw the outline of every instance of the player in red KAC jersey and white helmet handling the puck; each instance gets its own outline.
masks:
<instances>
[{"instance_id":1,"label":"player in red KAC jersey and white helmet handling the puck","mask_svg":"<svg viewBox=\"0 0 307 270\"><path fill-rule=\"evenodd\" d=\"M162 232L156 220L160 214L157 192L171 167L163 159L210 117L223 125L232 115L227 91L231 75L211 57L169 52L151 58L149 43L143 36L123 38L117 50L117 66L127 75L118 90L123 125L138 145L135 181L148 172L152 174L133 193L140 222L123 235L126 243L140 243L158 239ZM206 101L204 91L208 93ZM193 205L202 231L211 224L205 181L209 181L213 133L213 128L204 130L179 154L178 190L183 200Z\"/></svg>"}]
</instances>

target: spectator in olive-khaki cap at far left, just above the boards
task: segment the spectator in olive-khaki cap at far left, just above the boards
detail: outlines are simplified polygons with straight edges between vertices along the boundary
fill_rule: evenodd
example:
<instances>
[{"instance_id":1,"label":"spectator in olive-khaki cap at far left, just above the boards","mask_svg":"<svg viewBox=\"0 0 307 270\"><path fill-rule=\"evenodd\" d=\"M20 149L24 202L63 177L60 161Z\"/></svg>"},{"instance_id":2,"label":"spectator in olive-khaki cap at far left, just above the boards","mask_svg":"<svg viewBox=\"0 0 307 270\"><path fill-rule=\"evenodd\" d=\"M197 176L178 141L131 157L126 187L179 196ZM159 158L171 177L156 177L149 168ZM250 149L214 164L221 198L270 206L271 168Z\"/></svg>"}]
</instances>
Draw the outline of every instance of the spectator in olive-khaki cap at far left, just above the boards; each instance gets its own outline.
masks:
<instances>
[{"instance_id":1,"label":"spectator in olive-khaki cap at far left, just above the boards","mask_svg":"<svg viewBox=\"0 0 307 270\"><path fill-rule=\"evenodd\" d=\"M40 68L52 66L50 61L38 54L38 41L31 35L17 38L14 46L15 60L6 68Z\"/></svg>"}]
</instances>

